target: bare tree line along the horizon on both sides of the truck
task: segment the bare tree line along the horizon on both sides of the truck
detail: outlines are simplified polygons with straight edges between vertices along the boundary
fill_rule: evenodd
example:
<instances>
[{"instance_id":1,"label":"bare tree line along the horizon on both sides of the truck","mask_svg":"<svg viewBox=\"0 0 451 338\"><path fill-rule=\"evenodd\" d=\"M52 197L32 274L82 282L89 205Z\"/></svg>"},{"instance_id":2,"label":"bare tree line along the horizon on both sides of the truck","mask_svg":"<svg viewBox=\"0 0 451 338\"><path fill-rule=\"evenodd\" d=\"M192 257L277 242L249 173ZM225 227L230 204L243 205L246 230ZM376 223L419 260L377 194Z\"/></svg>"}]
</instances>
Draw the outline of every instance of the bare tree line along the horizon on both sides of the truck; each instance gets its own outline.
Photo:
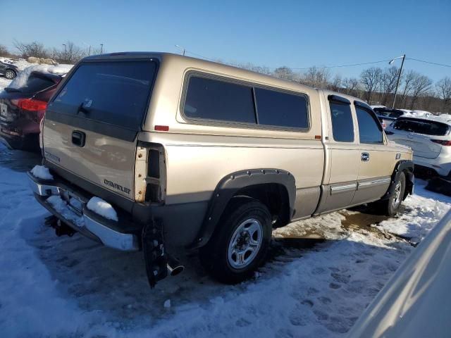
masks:
<instances>
[{"instance_id":1,"label":"bare tree line along the horizon on both sides of the truck","mask_svg":"<svg viewBox=\"0 0 451 338\"><path fill-rule=\"evenodd\" d=\"M100 48L82 48L73 42L66 42L64 48L47 48L40 42L13 42L16 51L10 51L0 44L0 57L52 58L58 63L76 63L88 55L101 54ZM63 46L63 45L62 45ZM104 51L105 52L105 51ZM216 60L224 63L221 60ZM311 67L304 72L295 72L283 66L271 70L252 63L228 63L257 73L272 75L281 79L307 84L311 87L330 89L335 92L360 97L369 104L392 106L400 68L395 66L371 67L362 70L359 77L333 75L330 68ZM402 70L397 90L395 108L417 109L432 112L451 113L451 77L438 82L414 70Z\"/></svg>"}]
</instances>

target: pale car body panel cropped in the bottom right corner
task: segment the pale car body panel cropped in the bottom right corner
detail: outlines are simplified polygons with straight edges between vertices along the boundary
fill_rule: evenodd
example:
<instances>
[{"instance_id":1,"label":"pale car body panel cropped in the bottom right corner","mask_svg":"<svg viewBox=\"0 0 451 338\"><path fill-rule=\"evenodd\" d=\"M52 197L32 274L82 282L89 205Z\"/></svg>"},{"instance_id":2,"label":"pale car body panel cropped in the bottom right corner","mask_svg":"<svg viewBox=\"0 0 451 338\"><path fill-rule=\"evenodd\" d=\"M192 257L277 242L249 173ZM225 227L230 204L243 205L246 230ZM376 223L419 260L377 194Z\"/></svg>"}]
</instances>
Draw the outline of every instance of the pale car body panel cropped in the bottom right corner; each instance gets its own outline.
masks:
<instances>
[{"instance_id":1,"label":"pale car body panel cropped in the bottom right corner","mask_svg":"<svg viewBox=\"0 0 451 338\"><path fill-rule=\"evenodd\" d=\"M347 338L450 337L451 211L402 263Z\"/></svg>"}]
</instances>

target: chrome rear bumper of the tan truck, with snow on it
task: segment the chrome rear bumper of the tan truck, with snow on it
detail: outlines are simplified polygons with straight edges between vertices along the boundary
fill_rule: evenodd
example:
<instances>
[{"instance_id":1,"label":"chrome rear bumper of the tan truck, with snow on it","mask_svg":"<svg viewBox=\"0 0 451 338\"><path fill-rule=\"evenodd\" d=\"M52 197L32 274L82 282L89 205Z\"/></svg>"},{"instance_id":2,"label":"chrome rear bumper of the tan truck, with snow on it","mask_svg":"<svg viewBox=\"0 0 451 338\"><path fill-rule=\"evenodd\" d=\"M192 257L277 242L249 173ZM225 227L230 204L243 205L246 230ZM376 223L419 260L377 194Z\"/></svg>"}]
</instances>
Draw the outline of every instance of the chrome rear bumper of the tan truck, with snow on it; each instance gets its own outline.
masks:
<instances>
[{"instance_id":1,"label":"chrome rear bumper of the tan truck, with snow on it","mask_svg":"<svg viewBox=\"0 0 451 338\"><path fill-rule=\"evenodd\" d=\"M72 227L76 232L114 249L122 251L137 251L140 249L139 235L127 232L125 229L128 227L123 226L121 217L116 222L90 211L86 206L89 197L75 192L63 182L42 180L31 173L27 173L27 175L30 187L39 204L42 204L56 218ZM51 199L49 200L51 196L61 197L63 201L66 201L66 206L63 204L56 208L55 204L51 203ZM76 203L74 204L77 204L80 208L72 206L68 202L70 199L75 199Z\"/></svg>"}]
</instances>

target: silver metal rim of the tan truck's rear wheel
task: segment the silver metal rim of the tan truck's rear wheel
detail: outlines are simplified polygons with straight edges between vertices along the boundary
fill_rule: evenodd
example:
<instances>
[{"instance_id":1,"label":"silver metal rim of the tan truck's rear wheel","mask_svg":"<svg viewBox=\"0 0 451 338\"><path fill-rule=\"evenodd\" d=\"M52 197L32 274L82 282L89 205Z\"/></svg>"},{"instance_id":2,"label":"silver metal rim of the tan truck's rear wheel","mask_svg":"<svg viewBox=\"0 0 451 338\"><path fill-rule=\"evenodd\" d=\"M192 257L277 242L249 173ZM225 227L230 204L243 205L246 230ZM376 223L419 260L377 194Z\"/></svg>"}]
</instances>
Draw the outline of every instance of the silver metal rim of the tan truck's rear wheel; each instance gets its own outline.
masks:
<instances>
[{"instance_id":1,"label":"silver metal rim of the tan truck's rear wheel","mask_svg":"<svg viewBox=\"0 0 451 338\"><path fill-rule=\"evenodd\" d=\"M246 268L254 261L263 242L263 226L255 218L242 222L228 244L228 263L235 269Z\"/></svg>"}]
</instances>

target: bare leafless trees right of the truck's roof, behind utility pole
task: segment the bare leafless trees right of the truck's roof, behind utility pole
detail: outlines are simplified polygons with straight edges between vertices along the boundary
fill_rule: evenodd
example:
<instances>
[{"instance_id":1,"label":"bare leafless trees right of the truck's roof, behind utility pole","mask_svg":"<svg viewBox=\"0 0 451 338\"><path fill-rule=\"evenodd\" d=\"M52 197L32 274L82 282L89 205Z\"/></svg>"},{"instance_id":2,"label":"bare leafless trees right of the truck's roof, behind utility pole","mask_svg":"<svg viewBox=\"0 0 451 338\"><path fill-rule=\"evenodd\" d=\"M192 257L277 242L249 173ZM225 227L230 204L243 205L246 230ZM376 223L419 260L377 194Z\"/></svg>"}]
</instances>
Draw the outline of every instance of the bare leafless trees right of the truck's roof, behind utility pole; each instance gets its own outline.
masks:
<instances>
[{"instance_id":1,"label":"bare leafless trees right of the truck's roof, behind utility pole","mask_svg":"<svg viewBox=\"0 0 451 338\"><path fill-rule=\"evenodd\" d=\"M321 67L311 67L300 73L286 66L271 70L252 63L232 63L232 65L310 87L357 96L371 105L390 108L400 73L400 68L395 66L371 67L362 70L359 77L341 77L334 76L330 68ZM395 108L451 113L451 77L443 77L434 84L429 77L415 70L402 70Z\"/></svg>"}]
</instances>

